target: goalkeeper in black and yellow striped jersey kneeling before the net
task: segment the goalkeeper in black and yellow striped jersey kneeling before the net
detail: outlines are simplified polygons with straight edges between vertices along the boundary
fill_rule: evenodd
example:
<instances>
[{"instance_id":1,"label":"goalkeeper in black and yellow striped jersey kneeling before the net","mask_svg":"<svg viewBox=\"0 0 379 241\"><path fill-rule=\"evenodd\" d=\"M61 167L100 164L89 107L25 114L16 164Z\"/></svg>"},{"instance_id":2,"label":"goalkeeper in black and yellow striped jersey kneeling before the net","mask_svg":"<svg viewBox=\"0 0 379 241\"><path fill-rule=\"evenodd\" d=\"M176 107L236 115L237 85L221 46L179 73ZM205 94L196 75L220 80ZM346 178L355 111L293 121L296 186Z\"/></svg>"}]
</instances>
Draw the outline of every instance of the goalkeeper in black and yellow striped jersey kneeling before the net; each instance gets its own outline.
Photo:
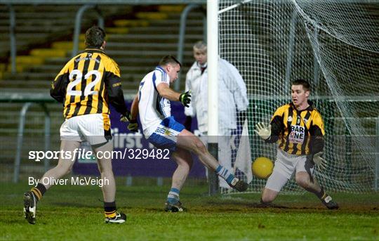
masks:
<instances>
[{"instance_id":1,"label":"goalkeeper in black and yellow striped jersey kneeling before the net","mask_svg":"<svg viewBox=\"0 0 379 241\"><path fill-rule=\"evenodd\" d=\"M328 209L338 204L320 187L313 175L314 165L326 168L321 157L324 149L324 122L308 100L310 84L304 79L292 82L292 103L277 109L270 125L258 123L255 132L266 143L279 143L277 161L262 193L262 204L270 204L295 172L295 181L314 193Z\"/></svg>"}]
</instances>

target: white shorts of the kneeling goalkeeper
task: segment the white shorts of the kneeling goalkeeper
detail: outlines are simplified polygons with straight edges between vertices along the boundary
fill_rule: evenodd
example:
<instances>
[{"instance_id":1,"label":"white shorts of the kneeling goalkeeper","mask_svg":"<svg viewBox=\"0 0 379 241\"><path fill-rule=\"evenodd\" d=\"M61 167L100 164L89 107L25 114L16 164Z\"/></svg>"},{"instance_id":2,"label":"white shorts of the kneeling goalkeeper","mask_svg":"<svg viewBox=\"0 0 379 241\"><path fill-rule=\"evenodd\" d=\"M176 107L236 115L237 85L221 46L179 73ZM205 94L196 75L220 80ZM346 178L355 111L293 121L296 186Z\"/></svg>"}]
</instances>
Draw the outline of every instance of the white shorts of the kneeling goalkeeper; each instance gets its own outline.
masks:
<instances>
[{"instance_id":1,"label":"white shorts of the kneeling goalkeeper","mask_svg":"<svg viewBox=\"0 0 379 241\"><path fill-rule=\"evenodd\" d=\"M278 148L274 170L268 178L265 188L279 192L293 173L305 171L313 175L314 165L307 163L306 155L292 155Z\"/></svg>"}]
</instances>

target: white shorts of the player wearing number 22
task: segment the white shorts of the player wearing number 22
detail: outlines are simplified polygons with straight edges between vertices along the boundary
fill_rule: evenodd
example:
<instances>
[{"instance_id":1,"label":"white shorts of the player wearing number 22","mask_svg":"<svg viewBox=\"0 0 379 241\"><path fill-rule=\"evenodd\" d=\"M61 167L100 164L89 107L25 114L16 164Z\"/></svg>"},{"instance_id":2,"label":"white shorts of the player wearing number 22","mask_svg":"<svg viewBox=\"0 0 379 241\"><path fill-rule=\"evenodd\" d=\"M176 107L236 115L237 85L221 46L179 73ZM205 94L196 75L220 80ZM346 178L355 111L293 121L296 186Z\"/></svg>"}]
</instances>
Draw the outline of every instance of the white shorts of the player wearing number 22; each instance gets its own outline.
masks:
<instances>
[{"instance_id":1,"label":"white shorts of the player wearing number 22","mask_svg":"<svg viewBox=\"0 0 379 241\"><path fill-rule=\"evenodd\" d=\"M91 145L112 140L109 115L89 114L66 119L60 126L61 141L88 141Z\"/></svg>"}]
</instances>

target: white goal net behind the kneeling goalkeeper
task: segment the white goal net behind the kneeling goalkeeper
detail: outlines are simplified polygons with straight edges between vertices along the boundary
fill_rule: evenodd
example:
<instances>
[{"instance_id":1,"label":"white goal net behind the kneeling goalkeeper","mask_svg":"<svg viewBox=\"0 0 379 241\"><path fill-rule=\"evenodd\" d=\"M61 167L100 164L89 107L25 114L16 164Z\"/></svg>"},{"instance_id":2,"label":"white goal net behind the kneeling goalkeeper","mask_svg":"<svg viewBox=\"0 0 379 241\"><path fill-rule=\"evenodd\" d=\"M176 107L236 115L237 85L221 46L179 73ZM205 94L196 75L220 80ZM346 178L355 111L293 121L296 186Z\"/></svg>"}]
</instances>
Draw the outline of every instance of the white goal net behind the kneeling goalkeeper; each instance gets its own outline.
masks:
<instances>
[{"instance_id":1,"label":"white goal net behind the kneeling goalkeeper","mask_svg":"<svg viewBox=\"0 0 379 241\"><path fill-rule=\"evenodd\" d=\"M260 140L254 126L291 101L291 81L307 79L326 131L328 168L315 169L319 183L326 190L374 190L379 3L219 0L219 11L220 57L237 67L248 91L251 159L275 159L277 145ZM265 182L253 176L248 191L259 192ZM293 178L283 190L302 191Z\"/></svg>"}]
</instances>

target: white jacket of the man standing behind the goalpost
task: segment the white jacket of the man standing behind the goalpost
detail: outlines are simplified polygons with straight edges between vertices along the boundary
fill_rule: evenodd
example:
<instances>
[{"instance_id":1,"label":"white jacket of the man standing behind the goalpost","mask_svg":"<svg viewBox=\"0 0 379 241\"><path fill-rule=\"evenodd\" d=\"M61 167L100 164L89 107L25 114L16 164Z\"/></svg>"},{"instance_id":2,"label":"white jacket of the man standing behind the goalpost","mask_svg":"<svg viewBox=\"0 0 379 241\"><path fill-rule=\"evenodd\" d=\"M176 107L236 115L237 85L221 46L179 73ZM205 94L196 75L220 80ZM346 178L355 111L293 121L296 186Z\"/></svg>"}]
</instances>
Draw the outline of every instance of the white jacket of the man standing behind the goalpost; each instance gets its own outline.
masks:
<instances>
[{"instance_id":1,"label":"white jacket of the man standing behind the goalpost","mask_svg":"<svg viewBox=\"0 0 379 241\"><path fill-rule=\"evenodd\" d=\"M218 126L219 134L237 129L237 111L248 107L246 85L236 67L227 60L218 61ZM201 69L197 62L187 72L185 91L191 91L192 100L185 115L197 116L199 131L208 131L208 70Z\"/></svg>"}]
</instances>

